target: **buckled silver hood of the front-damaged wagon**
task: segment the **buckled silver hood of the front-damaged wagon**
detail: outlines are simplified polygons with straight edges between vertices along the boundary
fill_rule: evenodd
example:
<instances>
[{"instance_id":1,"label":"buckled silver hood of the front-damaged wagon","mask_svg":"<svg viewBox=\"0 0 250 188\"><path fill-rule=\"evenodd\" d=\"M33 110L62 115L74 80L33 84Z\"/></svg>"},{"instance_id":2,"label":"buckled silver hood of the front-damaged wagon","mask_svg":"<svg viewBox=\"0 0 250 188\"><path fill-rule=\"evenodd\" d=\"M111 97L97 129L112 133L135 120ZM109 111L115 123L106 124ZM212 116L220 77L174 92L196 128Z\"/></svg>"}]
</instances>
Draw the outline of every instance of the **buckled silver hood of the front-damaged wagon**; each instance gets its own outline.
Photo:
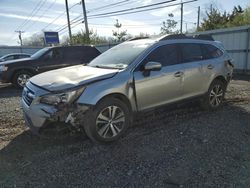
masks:
<instances>
[{"instance_id":1,"label":"buckled silver hood of the front-damaged wagon","mask_svg":"<svg viewBox=\"0 0 250 188\"><path fill-rule=\"evenodd\" d=\"M36 75L30 82L51 92L60 91L113 77L118 69L77 65Z\"/></svg>"}]
</instances>

